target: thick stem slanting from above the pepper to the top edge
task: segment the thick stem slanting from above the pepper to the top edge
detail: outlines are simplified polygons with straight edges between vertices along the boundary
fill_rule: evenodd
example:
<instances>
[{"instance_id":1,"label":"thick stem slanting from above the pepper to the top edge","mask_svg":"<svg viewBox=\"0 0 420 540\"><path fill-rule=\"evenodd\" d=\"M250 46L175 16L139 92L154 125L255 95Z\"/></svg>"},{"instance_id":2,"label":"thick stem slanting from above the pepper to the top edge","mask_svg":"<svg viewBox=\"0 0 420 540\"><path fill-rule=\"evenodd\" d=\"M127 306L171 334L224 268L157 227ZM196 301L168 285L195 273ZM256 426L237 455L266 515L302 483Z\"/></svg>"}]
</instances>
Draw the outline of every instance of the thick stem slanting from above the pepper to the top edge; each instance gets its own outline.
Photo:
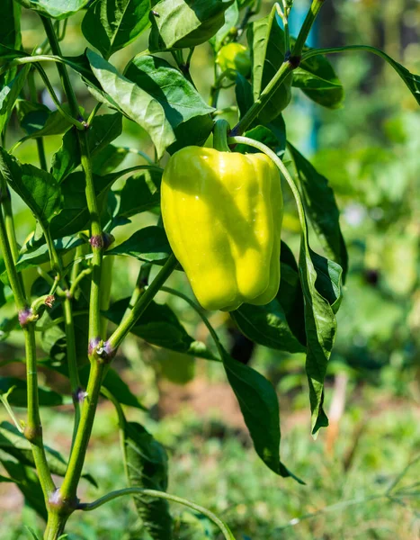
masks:
<instances>
[{"instance_id":1,"label":"thick stem slanting from above the pepper to the top edge","mask_svg":"<svg viewBox=\"0 0 420 540\"><path fill-rule=\"evenodd\" d=\"M255 100L255 103L249 108L249 110L244 114L242 119L237 122L237 125L231 130L230 135L235 137L243 133L258 114L264 108L265 103L269 102L273 97L273 94L277 91L279 86L283 83L287 76L299 66L300 56L302 54L302 49L305 45L305 41L308 38L308 33L312 28L313 23L324 4L325 0L313 0L312 4L309 7L308 14L306 16L305 22L299 31L299 36L295 42L295 46L289 58L287 58L282 64L277 73L273 76L272 80L265 86L263 92Z\"/></svg>"}]
</instances>

